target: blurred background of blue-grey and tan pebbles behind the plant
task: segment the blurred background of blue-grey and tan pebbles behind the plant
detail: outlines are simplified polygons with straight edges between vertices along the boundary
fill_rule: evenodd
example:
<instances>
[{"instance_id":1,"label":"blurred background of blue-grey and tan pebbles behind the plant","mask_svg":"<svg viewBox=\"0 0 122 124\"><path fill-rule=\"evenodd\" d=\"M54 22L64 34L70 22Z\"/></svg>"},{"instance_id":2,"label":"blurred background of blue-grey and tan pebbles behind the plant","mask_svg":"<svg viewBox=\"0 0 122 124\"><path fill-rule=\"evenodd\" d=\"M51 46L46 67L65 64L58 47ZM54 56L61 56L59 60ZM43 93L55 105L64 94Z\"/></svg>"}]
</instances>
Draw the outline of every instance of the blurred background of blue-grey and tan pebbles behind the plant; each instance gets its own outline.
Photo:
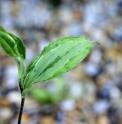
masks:
<instances>
[{"instance_id":1,"label":"blurred background of blue-grey and tan pebbles behind the plant","mask_svg":"<svg viewBox=\"0 0 122 124\"><path fill-rule=\"evenodd\" d=\"M0 26L23 40L27 65L60 37L100 43L71 71L31 88L23 124L122 124L122 0L0 0ZM0 122L17 123L20 99L16 64L0 48Z\"/></svg>"}]
</instances>

